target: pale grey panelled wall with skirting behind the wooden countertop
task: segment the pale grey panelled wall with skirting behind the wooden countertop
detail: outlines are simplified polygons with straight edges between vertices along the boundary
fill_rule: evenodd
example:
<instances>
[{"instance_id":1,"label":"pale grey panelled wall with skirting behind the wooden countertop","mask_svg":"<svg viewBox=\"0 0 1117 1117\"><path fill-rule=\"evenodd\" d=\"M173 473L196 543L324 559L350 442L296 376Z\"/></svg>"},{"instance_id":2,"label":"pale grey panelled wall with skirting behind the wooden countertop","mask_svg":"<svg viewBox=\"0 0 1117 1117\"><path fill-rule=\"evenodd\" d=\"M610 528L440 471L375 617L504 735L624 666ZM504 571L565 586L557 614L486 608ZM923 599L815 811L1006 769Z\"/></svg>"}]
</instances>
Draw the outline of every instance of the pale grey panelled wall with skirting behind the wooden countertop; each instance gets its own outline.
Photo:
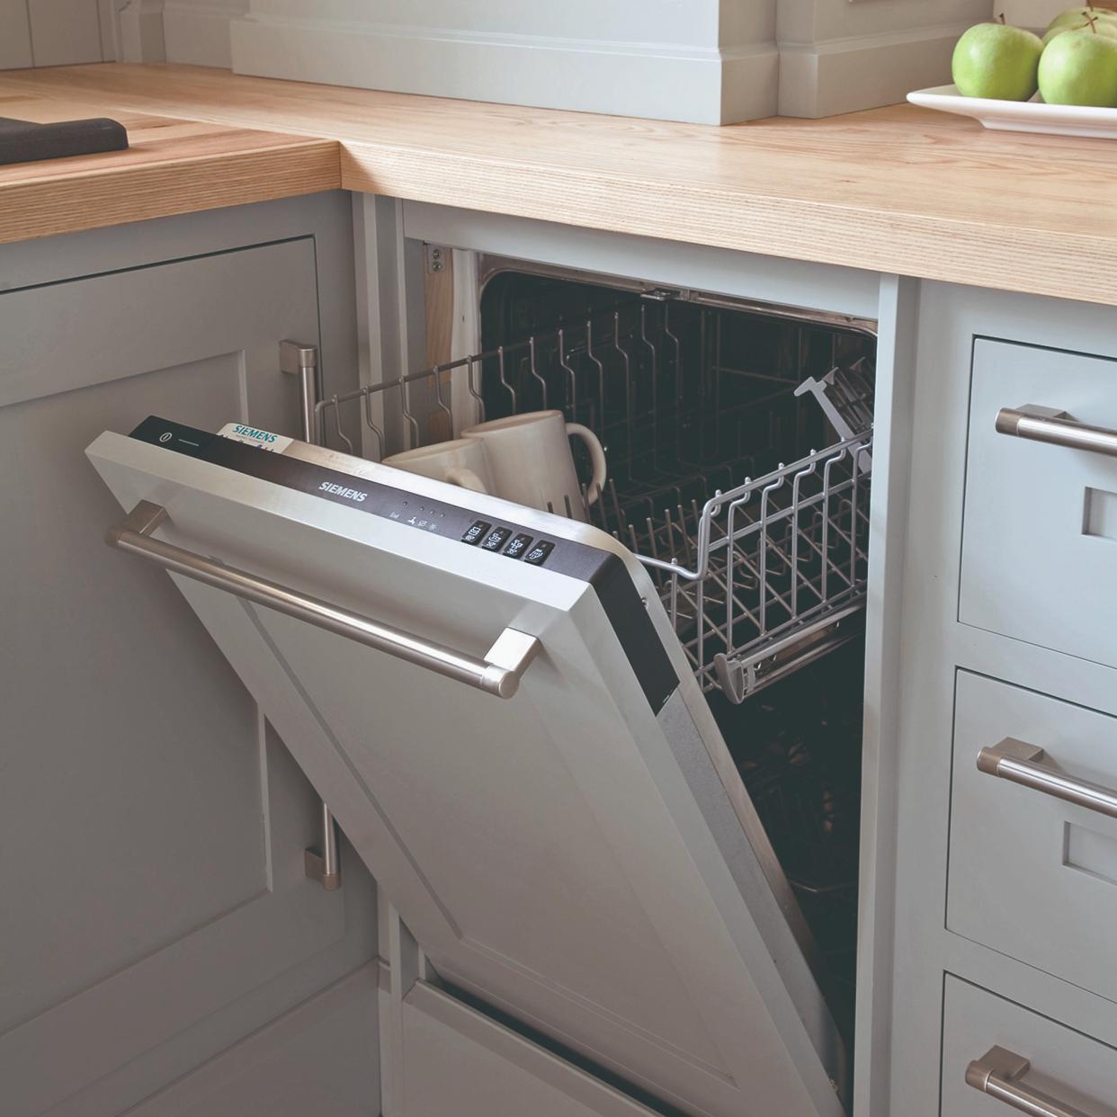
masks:
<instances>
[{"instance_id":1,"label":"pale grey panelled wall with skirting behind the wooden countertop","mask_svg":"<svg viewBox=\"0 0 1117 1117\"><path fill-rule=\"evenodd\" d=\"M418 10L404 0L131 3L159 6L170 61L696 124L903 101L949 79L954 42L990 9L990 0L687 0L682 18L676 0L613 0L598 18L595 0L424 0Z\"/></svg>"}]
</instances>

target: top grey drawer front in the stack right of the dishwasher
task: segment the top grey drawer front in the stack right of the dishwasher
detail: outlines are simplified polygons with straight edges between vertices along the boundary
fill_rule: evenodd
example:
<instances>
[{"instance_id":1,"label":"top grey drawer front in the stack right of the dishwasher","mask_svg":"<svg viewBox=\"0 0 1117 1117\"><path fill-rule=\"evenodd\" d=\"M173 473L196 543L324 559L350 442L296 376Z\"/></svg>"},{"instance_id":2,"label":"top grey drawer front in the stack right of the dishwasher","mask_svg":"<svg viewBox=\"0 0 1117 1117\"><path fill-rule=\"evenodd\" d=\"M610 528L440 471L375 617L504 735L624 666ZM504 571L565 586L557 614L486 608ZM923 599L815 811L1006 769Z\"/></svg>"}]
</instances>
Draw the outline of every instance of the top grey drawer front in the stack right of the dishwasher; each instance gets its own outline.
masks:
<instances>
[{"instance_id":1,"label":"top grey drawer front in the stack right of the dishwasher","mask_svg":"<svg viewBox=\"0 0 1117 1117\"><path fill-rule=\"evenodd\" d=\"M997 433L1023 404L1117 429L1117 362L974 344L958 619L1117 666L1117 458Z\"/></svg>"}]
</instances>

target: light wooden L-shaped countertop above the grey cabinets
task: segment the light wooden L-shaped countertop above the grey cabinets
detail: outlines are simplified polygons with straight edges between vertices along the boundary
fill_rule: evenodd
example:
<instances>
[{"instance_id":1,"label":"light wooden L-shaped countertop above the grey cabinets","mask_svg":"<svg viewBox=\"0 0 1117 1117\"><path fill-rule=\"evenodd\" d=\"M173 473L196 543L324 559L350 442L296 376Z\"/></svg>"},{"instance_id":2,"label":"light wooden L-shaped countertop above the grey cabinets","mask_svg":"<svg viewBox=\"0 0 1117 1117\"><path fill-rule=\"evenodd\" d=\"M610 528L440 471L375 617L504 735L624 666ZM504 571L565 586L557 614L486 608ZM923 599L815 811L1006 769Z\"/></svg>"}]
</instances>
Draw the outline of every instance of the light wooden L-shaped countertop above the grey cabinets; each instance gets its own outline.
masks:
<instances>
[{"instance_id":1,"label":"light wooden L-shaped countertop above the grey cabinets","mask_svg":"<svg viewBox=\"0 0 1117 1117\"><path fill-rule=\"evenodd\" d=\"M0 169L0 240L340 185L1117 306L1101 140L909 105L718 128L173 65L10 70L0 98L28 118L143 114L124 114L133 152Z\"/></svg>"}]
</instances>

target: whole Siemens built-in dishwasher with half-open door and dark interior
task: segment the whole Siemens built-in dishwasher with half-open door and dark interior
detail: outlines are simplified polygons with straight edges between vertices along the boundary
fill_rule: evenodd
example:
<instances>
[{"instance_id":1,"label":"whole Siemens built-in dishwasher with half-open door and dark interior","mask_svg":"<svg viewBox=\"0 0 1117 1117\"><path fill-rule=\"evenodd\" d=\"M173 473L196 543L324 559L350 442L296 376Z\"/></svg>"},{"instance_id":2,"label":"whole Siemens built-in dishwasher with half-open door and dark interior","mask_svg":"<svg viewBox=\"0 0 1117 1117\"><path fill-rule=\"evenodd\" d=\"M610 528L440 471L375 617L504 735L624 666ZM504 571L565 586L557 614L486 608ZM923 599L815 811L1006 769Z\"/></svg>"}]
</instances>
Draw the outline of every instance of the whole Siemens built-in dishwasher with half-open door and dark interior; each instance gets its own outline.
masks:
<instances>
[{"instance_id":1,"label":"whole Siemens built-in dishwasher with half-open door and dark interior","mask_svg":"<svg viewBox=\"0 0 1117 1117\"><path fill-rule=\"evenodd\" d=\"M496 257L476 286L457 360L318 400L307 360L302 439L102 435L108 540L171 572L446 989L652 1111L837 1117L876 324ZM577 509L376 460L546 409L607 452Z\"/></svg>"}]
</instances>

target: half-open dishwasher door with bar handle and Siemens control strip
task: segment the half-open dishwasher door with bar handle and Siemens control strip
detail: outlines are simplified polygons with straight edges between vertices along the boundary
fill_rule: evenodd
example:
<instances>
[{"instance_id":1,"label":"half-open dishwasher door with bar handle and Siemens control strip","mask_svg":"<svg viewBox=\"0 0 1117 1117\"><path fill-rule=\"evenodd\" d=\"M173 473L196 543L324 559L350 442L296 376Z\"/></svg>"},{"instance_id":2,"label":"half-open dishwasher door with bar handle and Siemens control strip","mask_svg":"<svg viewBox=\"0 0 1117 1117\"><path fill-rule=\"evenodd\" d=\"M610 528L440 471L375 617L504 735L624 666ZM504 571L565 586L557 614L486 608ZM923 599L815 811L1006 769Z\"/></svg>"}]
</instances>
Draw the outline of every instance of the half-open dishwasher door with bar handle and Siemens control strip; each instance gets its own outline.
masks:
<instances>
[{"instance_id":1,"label":"half-open dishwasher door with bar handle and Siemens control strip","mask_svg":"<svg viewBox=\"0 0 1117 1117\"><path fill-rule=\"evenodd\" d=\"M798 911L618 544L155 418L87 454L446 981L688 1113L842 1113Z\"/></svg>"}]
</instances>

